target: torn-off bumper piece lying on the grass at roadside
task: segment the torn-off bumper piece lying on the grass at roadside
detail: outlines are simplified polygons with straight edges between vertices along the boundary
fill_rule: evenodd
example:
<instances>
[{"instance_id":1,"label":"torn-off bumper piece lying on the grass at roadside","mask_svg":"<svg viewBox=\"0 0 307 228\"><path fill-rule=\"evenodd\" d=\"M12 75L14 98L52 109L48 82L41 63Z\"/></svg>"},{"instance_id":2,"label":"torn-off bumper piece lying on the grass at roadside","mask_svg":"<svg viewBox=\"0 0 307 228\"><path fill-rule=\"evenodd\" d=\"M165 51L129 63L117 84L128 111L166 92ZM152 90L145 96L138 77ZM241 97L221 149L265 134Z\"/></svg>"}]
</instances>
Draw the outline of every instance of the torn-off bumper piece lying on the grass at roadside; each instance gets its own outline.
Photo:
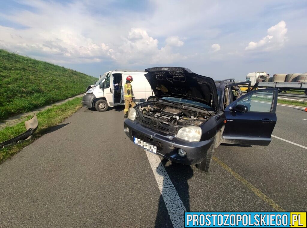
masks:
<instances>
[{"instance_id":1,"label":"torn-off bumper piece lying on the grass at roadside","mask_svg":"<svg viewBox=\"0 0 307 228\"><path fill-rule=\"evenodd\" d=\"M0 143L0 149L11 146L15 143L22 143L25 140L30 139L31 135L37 130L37 127L38 127L38 120L36 114L34 113L34 116L30 120L25 121L26 131L14 138L11 138L9 140Z\"/></svg>"}]
</instances>

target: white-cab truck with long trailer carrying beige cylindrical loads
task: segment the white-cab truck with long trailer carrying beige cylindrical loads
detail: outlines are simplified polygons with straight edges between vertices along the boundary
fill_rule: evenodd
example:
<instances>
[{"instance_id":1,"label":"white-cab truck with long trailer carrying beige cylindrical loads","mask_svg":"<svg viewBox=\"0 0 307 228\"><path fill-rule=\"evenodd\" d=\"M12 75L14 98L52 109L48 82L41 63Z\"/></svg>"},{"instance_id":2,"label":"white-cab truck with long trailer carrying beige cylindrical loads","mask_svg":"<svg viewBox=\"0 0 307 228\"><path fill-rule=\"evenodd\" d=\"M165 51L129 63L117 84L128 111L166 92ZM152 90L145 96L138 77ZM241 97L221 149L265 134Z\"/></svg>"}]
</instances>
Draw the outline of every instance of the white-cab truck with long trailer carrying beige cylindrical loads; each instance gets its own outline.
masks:
<instances>
[{"instance_id":1,"label":"white-cab truck with long trailer carrying beige cylindrical loads","mask_svg":"<svg viewBox=\"0 0 307 228\"><path fill-rule=\"evenodd\" d=\"M273 77L266 72L252 72L247 74L245 81L251 81L251 86L257 83L257 87L277 88L278 92L302 90L307 95L307 72L274 74Z\"/></svg>"}]
</instances>

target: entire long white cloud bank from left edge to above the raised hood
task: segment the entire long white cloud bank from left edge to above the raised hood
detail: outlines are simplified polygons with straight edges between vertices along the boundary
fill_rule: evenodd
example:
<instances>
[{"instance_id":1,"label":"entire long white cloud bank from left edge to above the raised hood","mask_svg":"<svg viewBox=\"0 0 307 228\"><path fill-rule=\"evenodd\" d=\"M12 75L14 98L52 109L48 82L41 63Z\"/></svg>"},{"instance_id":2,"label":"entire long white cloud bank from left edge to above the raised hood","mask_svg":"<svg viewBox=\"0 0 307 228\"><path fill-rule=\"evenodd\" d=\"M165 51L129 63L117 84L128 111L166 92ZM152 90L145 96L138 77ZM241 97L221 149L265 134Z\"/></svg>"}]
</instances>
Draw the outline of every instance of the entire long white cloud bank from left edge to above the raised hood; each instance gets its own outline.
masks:
<instances>
[{"instance_id":1,"label":"entire long white cloud bank from left edge to above the raised hood","mask_svg":"<svg viewBox=\"0 0 307 228\"><path fill-rule=\"evenodd\" d=\"M125 19L123 24L121 16L91 14L86 2L24 0L22 4L35 10L5 15L7 20L25 28L0 25L0 48L58 63L115 60L120 65L154 64L184 58L173 53L173 48L184 45L179 37L167 37L165 46L158 48L158 40L149 36L147 29L130 29L133 21Z\"/></svg>"}]
</instances>

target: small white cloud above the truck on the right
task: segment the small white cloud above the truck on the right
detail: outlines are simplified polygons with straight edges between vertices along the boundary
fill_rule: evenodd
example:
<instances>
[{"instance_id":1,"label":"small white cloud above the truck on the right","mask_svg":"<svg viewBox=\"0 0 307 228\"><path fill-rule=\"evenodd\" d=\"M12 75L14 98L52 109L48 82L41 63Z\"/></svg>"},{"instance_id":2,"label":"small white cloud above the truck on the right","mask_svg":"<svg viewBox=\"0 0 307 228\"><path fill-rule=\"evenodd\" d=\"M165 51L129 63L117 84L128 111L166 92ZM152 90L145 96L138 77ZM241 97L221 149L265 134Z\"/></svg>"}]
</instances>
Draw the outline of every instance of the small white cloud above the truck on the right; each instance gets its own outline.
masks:
<instances>
[{"instance_id":1,"label":"small white cloud above the truck on the right","mask_svg":"<svg viewBox=\"0 0 307 228\"><path fill-rule=\"evenodd\" d=\"M286 22L281 21L277 25L270 27L267 30L267 36L263 37L258 42L249 42L245 50L277 50L281 49L284 46L284 43L287 39L286 33Z\"/></svg>"}]
</instances>

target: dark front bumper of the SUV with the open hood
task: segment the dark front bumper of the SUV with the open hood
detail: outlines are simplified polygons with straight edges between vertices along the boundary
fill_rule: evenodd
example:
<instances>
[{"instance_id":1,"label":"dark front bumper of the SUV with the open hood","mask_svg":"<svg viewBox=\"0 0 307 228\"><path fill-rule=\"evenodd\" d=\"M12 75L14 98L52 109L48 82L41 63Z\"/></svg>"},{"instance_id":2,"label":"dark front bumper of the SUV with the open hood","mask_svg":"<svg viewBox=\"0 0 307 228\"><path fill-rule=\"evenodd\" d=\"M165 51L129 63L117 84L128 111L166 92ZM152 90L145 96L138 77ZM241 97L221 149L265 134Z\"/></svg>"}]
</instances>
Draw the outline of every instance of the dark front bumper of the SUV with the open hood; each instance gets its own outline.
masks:
<instances>
[{"instance_id":1,"label":"dark front bumper of the SUV with the open hood","mask_svg":"<svg viewBox=\"0 0 307 228\"><path fill-rule=\"evenodd\" d=\"M138 121L133 122L129 119L124 120L124 132L132 141L134 137L137 137L156 146L157 155L185 165L202 162L214 140L212 138L206 141L188 142L178 139L174 135L167 135L166 133L146 128ZM185 150L187 155L185 157L179 156L177 153L178 149Z\"/></svg>"}]
</instances>

